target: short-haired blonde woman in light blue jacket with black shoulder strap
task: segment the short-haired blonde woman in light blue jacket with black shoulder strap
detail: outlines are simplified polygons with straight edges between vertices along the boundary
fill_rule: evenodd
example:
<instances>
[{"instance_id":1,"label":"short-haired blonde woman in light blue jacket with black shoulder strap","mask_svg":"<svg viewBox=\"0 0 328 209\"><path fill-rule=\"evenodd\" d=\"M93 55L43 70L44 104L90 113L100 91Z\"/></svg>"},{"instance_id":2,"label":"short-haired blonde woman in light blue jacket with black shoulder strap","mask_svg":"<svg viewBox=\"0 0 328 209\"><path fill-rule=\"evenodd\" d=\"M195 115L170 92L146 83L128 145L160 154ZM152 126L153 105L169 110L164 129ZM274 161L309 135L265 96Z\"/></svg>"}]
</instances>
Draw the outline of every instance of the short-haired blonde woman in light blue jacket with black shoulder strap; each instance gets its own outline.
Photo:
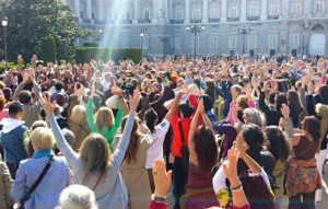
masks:
<instances>
[{"instance_id":1,"label":"short-haired blonde woman in light blue jacket with black shoulder strap","mask_svg":"<svg viewBox=\"0 0 328 209\"><path fill-rule=\"evenodd\" d=\"M63 158L55 156L51 150L55 139L50 129L36 128L31 132L30 139L35 152L30 159L20 162L16 178L11 187L11 196L15 201L24 199L25 209L45 206L55 208L61 190L70 184L70 169ZM47 164L50 164L48 171L37 187L31 191L31 187L39 178ZM26 197L26 193L32 194Z\"/></svg>"}]
</instances>

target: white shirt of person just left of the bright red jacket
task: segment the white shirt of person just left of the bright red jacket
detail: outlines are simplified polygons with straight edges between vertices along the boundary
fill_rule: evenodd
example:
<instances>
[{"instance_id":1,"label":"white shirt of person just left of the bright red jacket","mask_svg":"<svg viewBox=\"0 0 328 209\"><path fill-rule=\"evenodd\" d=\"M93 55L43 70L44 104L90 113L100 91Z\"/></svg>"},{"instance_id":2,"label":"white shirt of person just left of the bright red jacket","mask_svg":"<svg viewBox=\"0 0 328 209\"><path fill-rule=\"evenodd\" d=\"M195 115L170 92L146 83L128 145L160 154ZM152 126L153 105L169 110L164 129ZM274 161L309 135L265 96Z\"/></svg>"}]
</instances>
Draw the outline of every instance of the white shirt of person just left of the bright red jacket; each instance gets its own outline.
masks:
<instances>
[{"instance_id":1,"label":"white shirt of person just left of the bright red jacket","mask_svg":"<svg viewBox=\"0 0 328 209\"><path fill-rule=\"evenodd\" d=\"M148 149L145 169L152 169L156 159L164 160L163 142L168 128L169 121L165 118L162 120L161 124L155 126L155 131L152 133L152 137L153 139L155 139L155 142Z\"/></svg>"}]
</instances>

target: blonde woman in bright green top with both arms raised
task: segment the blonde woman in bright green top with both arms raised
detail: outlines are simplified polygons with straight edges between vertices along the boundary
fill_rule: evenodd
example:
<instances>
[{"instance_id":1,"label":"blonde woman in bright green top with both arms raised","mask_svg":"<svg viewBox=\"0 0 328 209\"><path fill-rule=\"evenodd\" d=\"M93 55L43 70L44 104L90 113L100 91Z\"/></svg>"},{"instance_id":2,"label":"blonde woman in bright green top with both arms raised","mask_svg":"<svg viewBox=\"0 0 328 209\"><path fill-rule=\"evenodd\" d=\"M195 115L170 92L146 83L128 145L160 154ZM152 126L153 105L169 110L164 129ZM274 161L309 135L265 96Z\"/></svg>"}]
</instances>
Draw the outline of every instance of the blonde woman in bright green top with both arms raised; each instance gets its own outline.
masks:
<instances>
[{"instance_id":1,"label":"blonde woman in bright green top with both arms raised","mask_svg":"<svg viewBox=\"0 0 328 209\"><path fill-rule=\"evenodd\" d=\"M122 96L122 91L118 88L113 89L113 94L118 96L116 118L108 107L101 107L95 117L93 117L93 96L95 94L95 82L93 82L91 88L90 98L86 104L86 121L91 129L91 132L98 132L107 140L110 151L113 152L113 139L120 126L120 121L124 117L124 111L127 113L127 104Z\"/></svg>"}]
</instances>

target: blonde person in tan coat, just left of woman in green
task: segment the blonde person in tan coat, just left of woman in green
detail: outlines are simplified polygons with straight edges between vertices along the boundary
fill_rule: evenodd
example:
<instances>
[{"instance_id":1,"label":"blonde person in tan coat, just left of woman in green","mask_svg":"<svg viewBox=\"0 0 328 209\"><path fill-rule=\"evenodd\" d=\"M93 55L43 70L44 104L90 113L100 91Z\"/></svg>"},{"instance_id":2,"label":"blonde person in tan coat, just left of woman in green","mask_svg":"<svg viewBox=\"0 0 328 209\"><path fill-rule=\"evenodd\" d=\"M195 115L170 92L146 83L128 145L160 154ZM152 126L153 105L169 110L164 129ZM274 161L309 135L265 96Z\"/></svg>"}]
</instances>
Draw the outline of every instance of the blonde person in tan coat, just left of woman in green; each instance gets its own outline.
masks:
<instances>
[{"instance_id":1,"label":"blonde person in tan coat, just left of woman in green","mask_svg":"<svg viewBox=\"0 0 328 209\"><path fill-rule=\"evenodd\" d=\"M90 127L86 123L85 107L83 105L74 106L68 123L69 123L70 130L75 136L73 150L78 151L85 137L87 137L91 132Z\"/></svg>"}]
</instances>

